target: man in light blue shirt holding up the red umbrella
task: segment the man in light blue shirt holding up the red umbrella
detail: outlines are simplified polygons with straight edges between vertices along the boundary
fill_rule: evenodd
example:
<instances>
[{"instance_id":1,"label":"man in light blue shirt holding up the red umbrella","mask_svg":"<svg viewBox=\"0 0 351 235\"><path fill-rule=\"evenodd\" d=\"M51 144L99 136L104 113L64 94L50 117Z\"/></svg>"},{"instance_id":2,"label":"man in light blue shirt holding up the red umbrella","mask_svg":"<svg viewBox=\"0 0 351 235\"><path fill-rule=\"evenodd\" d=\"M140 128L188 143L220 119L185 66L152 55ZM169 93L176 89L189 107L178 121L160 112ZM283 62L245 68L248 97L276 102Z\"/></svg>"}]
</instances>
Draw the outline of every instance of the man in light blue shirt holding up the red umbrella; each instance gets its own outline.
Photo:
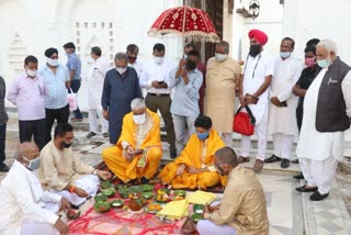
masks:
<instances>
[{"instance_id":1,"label":"man in light blue shirt holding up the red umbrella","mask_svg":"<svg viewBox=\"0 0 351 235\"><path fill-rule=\"evenodd\" d=\"M196 69L199 57L199 52L189 52L188 59L181 59L179 67L171 72L176 79L171 113L173 114L178 155L183 150L189 137L195 133L194 122L200 114L199 89L203 83L203 75Z\"/></svg>"}]
</instances>

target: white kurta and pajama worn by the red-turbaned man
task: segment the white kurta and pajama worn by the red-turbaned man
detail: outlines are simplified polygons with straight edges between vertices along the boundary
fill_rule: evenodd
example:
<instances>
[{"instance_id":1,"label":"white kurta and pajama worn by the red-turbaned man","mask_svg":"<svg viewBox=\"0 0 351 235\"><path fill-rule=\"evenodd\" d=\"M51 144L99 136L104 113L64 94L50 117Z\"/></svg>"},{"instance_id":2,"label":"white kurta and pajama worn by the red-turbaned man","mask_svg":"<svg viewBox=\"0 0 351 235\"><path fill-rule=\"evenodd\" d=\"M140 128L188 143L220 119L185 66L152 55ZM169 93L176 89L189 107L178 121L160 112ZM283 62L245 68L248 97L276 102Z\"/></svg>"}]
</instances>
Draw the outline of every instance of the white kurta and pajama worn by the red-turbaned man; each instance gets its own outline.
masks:
<instances>
[{"instance_id":1,"label":"white kurta and pajama worn by the red-turbaned man","mask_svg":"<svg viewBox=\"0 0 351 235\"><path fill-rule=\"evenodd\" d=\"M249 56L246 61L246 68L244 72L242 81L242 96L247 93L253 94L263 85L267 76L273 76L274 74L274 60L265 52L260 55ZM249 108L256 118L256 133L258 136L258 154L257 158L264 160L267 135L268 135L268 107L269 107L269 89L267 89L260 97L257 104L249 104ZM241 135L240 155L242 157L249 157L251 137Z\"/></svg>"}]
</instances>

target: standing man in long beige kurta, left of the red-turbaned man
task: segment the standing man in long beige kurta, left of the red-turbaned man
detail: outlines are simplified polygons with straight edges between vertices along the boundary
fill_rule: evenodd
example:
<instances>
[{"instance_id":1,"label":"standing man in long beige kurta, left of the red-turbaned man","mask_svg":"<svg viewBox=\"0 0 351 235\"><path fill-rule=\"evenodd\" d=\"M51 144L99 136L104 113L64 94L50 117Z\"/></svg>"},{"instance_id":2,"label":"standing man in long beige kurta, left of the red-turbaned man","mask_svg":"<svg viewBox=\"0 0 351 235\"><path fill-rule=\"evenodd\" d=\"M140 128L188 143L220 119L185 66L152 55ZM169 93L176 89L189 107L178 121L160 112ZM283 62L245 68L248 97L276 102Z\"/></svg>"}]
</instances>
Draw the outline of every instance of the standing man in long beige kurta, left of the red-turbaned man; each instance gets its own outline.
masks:
<instances>
[{"instance_id":1,"label":"standing man in long beige kurta, left of the red-turbaned man","mask_svg":"<svg viewBox=\"0 0 351 235\"><path fill-rule=\"evenodd\" d=\"M228 57L229 44L216 45L215 57L207 61L205 114L213 120L227 146L233 145L235 90L240 76L239 64Z\"/></svg>"}]
</instances>

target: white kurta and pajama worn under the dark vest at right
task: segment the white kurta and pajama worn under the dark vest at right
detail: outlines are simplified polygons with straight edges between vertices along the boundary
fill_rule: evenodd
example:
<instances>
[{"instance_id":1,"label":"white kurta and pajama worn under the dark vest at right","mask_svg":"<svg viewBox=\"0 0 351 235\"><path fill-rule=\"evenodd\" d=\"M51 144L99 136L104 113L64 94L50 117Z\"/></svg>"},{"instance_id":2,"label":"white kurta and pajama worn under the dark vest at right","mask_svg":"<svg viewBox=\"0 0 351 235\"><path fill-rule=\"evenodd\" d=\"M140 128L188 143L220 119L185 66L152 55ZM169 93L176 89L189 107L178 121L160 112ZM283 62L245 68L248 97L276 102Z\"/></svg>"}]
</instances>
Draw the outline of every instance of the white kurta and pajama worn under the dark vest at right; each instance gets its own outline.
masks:
<instances>
[{"instance_id":1,"label":"white kurta and pajama worn under the dark vest at right","mask_svg":"<svg viewBox=\"0 0 351 235\"><path fill-rule=\"evenodd\" d=\"M318 92L328 68L324 68L308 88L304 101L304 119L296 154L307 186L318 187L320 194L330 191L338 160L343 157L343 132L321 133L316 130ZM351 116L351 72L343 78L342 93L347 115Z\"/></svg>"}]
</instances>

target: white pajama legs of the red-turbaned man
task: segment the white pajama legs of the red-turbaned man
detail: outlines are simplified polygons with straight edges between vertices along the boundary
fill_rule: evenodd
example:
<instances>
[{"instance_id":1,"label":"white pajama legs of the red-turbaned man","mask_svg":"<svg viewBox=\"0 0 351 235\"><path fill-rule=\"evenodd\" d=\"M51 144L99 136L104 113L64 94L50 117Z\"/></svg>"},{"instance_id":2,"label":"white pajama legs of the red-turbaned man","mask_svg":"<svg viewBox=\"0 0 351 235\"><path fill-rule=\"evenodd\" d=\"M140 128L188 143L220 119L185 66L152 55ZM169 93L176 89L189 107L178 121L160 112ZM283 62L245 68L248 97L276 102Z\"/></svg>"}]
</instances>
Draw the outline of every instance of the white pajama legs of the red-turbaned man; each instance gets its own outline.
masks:
<instances>
[{"instance_id":1,"label":"white pajama legs of the red-turbaned man","mask_svg":"<svg viewBox=\"0 0 351 235\"><path fill-rule=\"evenodd\" d=\"M259 112L259 120L257 120L257 124L254 126L257 137L258 137L258 153L257 159L264 160L265 158L265 148L267 148L267 135L268 135L268 104L261 107ZM244 111L244 110L242 110ZM251 109L252 111L252 109ZM261 114L261 112L263 112ZM252 111L254 116L254 112ZM241 144L240 144L240 156L249 157L251 149L251 136L241 135Z\"/></svg>"}]
</instances>

